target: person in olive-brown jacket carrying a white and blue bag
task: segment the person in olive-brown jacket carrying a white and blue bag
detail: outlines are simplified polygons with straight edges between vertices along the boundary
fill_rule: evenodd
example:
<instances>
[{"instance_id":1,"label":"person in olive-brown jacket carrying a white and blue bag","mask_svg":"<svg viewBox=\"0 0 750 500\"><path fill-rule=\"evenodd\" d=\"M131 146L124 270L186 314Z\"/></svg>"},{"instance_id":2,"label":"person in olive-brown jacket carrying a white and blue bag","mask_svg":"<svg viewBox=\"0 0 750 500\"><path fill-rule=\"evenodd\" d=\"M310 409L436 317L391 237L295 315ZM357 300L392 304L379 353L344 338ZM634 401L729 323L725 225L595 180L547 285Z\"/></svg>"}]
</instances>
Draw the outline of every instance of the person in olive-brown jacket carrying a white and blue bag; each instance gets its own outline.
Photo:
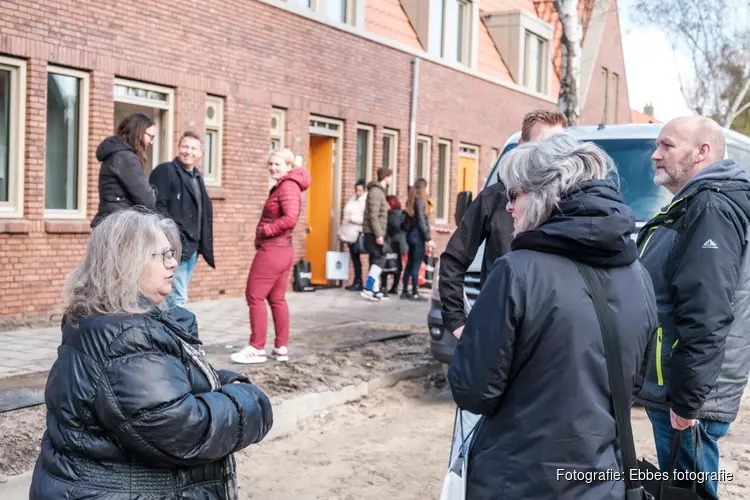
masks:
<instances>
[{"instance_id":1,"label":"person in olive-brown jacket carrying a white and blue bag","mask_svg":"<svg viewBox=\"0 0 750 500\"><path fill-rule=\"evenodd\" d=\"M388 230L387 190L391 184L393 172L389 168L378 169L378 180L367 185L367 202L362 231L365 233L365 249L370 257L370 271L362 297L379 301L383 298L380 291L380 274L385 266L385 235Z\"/></svg>"}]
</instances>

